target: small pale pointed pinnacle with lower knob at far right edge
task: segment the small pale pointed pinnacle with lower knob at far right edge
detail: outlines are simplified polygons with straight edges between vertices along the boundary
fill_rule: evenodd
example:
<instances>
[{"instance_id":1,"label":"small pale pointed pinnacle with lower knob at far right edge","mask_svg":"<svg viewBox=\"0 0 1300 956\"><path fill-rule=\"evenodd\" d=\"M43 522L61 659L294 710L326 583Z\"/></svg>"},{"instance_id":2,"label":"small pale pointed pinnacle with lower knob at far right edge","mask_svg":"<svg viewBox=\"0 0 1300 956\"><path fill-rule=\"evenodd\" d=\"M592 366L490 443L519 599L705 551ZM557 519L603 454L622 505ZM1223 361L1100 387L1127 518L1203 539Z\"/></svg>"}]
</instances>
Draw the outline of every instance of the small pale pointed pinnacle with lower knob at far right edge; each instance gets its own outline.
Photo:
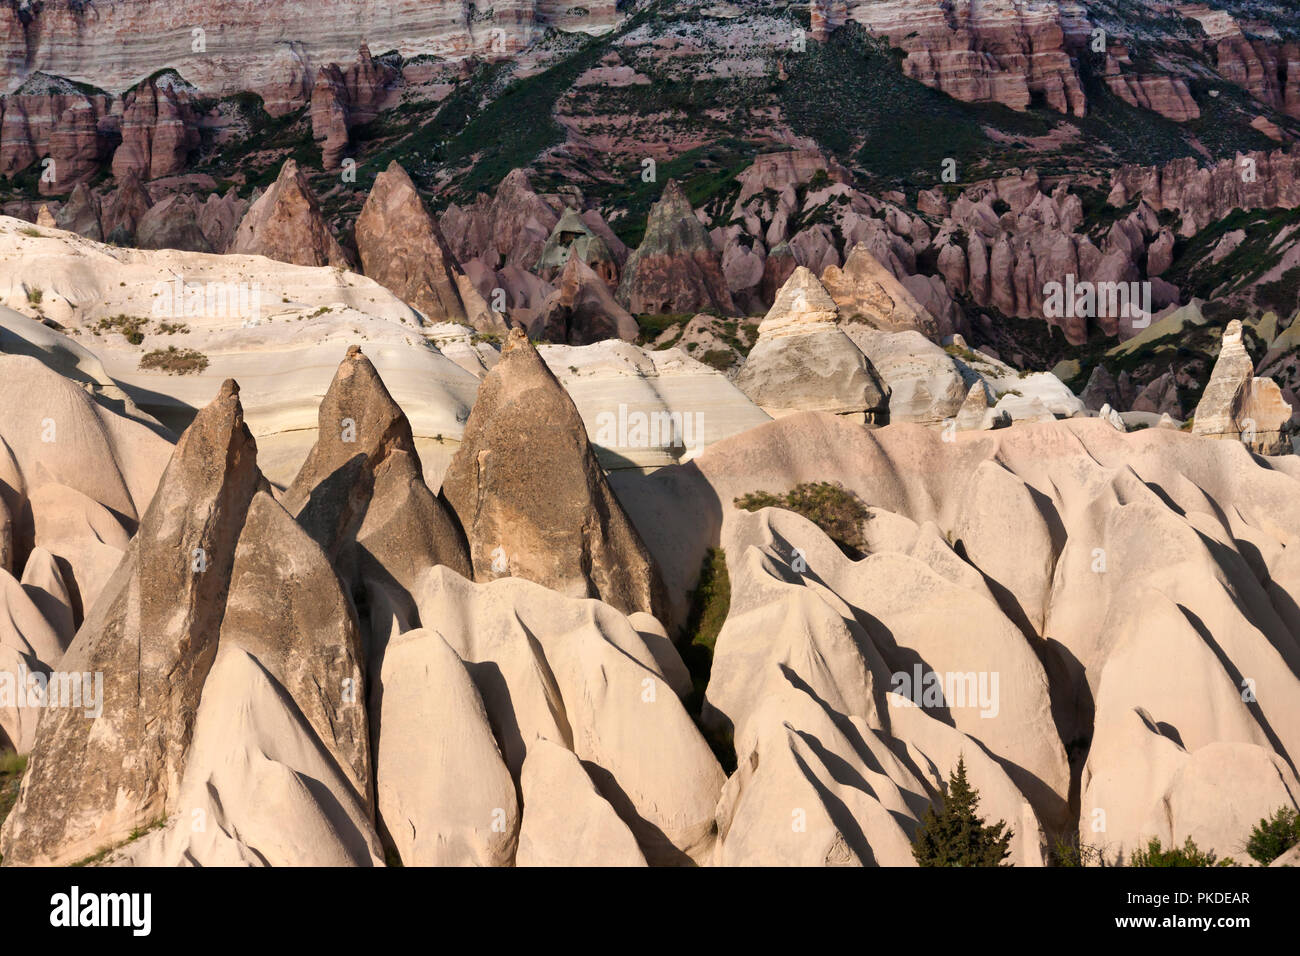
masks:
<instances>
[{"instance_id":1,"label":"small pale pointed pinnacle with lower knob at far right edge","mask_svg":"<svg viewBox=\"0 0 1300 956\"><path fill-rule=\"evenodd\" d=\"M1234 319L1223 330L1223 347L1209 385L1196 406L1193 434L1234 438L1261 455L1290 450L1291 406L1271 378L1254 376L1254 362L1242 345L1242 323Z\"/></svg>"}]
</instances>

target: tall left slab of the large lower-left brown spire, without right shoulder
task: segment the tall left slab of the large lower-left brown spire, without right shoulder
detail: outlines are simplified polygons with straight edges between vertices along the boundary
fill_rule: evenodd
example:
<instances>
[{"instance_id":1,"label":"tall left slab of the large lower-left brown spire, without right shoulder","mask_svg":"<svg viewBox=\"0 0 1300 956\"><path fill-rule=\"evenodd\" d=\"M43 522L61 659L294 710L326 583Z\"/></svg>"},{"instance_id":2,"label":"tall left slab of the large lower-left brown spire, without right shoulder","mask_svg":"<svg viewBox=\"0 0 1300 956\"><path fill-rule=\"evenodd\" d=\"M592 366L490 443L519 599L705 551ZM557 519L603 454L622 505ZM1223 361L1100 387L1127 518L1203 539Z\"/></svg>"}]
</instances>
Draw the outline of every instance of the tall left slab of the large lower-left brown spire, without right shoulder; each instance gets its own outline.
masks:
<instances>
[{"instance_id":1,"label":"tall left slab of the large lower-left brown spire, without right shoulder","mask_svg":"<svg viewBox=\"0 0 1300 956\"><path fill-rule=\"evenodd\" d=\"M169 809L260 480L255 457L231 382L177 445L122 566L69 649L66 667L104 675L105 723L96 730L70 709L42 722L3 831L6 860L78 860ZM116 743L91 747L92 734ZM69 778L68 760L84 773Z\"/></svg>"}]
</instances>

